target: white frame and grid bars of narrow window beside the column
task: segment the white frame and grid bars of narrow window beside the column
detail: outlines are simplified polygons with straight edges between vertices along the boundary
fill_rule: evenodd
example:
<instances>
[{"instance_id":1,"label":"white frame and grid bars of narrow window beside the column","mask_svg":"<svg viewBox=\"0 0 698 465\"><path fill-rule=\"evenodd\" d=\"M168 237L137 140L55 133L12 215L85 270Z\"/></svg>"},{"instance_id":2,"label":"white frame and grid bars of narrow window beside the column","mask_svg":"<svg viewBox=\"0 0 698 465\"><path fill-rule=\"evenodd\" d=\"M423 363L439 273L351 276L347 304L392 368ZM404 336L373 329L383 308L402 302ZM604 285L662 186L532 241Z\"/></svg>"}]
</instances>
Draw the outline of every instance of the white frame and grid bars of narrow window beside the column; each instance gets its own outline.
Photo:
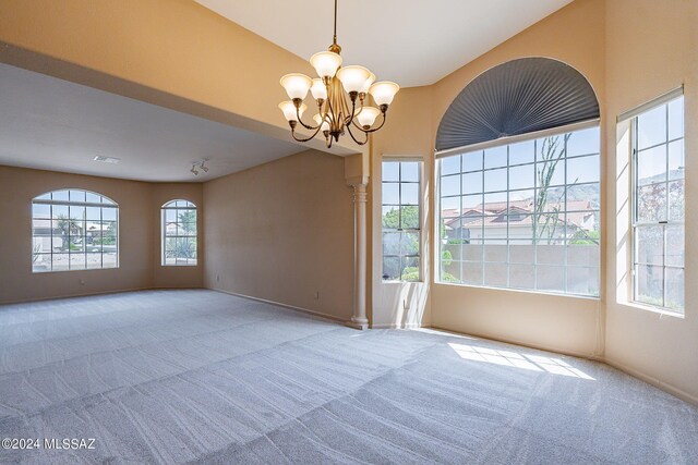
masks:
<instances>
[{"instance_id":1,"label":"white frame and grid bars of narrow window beside the column","mask_svg":"<svg viewBox=\"0 0 698 465\"><path fill-rule=\"evenodd\" d=\"M384 181L383 180L383 163L404 163L404 162L410 162L410 163L417 163L418 167L418 181L402 181L402 174L401 174L401 164L398 167L398 181ZM424 160L420 157L420 158L410 158L410 157L395 157L395 156L383 156L382 160L381 160L381 279L383 282L423 282L423 269L424 269L424 264L423 264L423 257L422 257L422 252L424 249L423 246L423 240L424 240L424 235L422 233L422 220L423 220L423 179L424 179ZM417 192L418 192L418 204L417 204L417 209L418 209L418 228L408 228L408 229L402 229L402 228L398 228L396 230L388 230L388 231L394 231L394 232L401 232L401 231L408 231L408 232L412 232L416 233L418 236L418 244L419 244L419 250L416 255L413 254L398 254L398 255L393 255L393 254L388 254L385 255L384 253L384 248L383 248L383 237L384 237L384 232L386 232L386 230L383 228L383 207L397 207L398 211L401 207L411 207L413 205L411 204L385 204L384 197L383 197L383 185L385 183L388 184L398 184L398 198L401 201L401 187L402 184L417 184ZM400 279L386 279L384 278L384 273L383 273L383 266L384 266L384 260L386 257L392 257L392 258L398 258L400 260L400 270L402 270L402 259L405 257L410 257L410 258L417 258L419 260L419 277L417 280L412 281L412 280L404 280L402 277L400 276Z\"/></svg>"}]
</instances>

